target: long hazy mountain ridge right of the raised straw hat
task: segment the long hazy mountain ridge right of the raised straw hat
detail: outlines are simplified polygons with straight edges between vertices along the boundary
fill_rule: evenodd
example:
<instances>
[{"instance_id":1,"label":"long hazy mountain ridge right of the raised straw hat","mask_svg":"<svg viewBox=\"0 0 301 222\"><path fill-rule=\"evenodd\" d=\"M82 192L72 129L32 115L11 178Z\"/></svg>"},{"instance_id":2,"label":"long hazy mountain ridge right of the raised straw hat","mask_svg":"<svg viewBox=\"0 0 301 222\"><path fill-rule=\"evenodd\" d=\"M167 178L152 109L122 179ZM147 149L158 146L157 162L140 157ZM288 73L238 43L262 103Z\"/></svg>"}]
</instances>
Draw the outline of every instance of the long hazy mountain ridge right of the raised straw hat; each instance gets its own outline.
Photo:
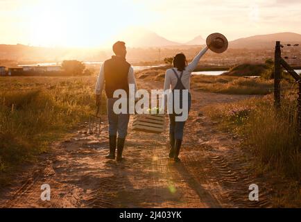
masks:
<instances>
[{"instance_id":1,"label":"long hazy mountain ridge right of the raised straw hat","mask_svg":"<svg viewBox=\"0 0 301 222\"><path fill-rule=\"evenodd\" d=\"M270 49L275 46L276 41L281 41L284 44L300 44L301 35L298 33L255 35L234 40L229 43L229 47L232 49Z\"/></svg>"}]
</instances>

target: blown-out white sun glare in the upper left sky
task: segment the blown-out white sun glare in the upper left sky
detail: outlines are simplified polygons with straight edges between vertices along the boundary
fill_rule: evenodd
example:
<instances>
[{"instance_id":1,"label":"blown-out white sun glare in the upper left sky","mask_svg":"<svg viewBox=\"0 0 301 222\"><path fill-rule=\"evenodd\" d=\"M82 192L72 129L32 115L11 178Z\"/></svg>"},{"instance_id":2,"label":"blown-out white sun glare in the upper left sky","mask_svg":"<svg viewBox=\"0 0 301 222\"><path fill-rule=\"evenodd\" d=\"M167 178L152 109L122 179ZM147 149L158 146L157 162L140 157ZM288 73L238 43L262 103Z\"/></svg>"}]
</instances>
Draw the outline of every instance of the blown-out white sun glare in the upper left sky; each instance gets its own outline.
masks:
<instances>
[{"instance_id":1,"label":"blown-out white sun glare in the upper left sky","mask_svg":"<svg viewBox=\"0 0 301 222\"><path fill-rule=\"evenodd\" d=\"M149 18L131 1L39 1L28 13L30 43L40 46L104 46Z\"/></svg>"}]
</instances>

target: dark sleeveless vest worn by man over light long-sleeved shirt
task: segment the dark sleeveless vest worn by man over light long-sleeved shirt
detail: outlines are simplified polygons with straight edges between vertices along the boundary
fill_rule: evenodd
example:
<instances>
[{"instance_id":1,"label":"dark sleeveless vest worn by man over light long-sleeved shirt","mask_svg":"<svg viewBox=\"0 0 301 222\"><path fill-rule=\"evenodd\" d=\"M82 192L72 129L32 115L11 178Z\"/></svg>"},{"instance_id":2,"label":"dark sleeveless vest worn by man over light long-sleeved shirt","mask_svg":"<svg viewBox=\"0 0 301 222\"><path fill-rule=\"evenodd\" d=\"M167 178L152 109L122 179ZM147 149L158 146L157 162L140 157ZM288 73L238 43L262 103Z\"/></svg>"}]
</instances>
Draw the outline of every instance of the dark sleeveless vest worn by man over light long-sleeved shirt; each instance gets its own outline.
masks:
<instances>
[{"instance_id":1,"label":"dark sleeveless vest worn by man over light long-sleeved shirt","mask_svg":"<svg viewBox=\"0 0 301 222\"><path fill-rule=\"evenodd\" d=\"M104 64L105 71L105 93L107 98L113 98L114 91L124 89L128 94L128 71L130 63L125 58L112 56Z\"/></svg>"}]
</instances>

